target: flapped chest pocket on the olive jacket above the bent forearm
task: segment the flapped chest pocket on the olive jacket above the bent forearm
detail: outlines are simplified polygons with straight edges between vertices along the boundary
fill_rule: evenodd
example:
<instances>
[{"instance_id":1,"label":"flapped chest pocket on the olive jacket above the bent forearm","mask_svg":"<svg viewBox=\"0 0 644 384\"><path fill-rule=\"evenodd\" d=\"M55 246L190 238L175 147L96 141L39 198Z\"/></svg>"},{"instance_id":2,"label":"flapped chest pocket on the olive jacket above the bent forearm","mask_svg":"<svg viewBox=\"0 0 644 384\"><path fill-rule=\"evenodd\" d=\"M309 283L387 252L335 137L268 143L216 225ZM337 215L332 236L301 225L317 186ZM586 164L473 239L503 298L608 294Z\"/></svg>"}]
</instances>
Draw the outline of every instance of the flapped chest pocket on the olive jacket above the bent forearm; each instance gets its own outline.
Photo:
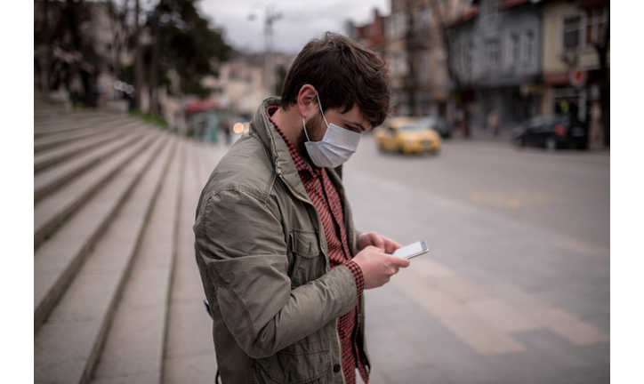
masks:
<instances>
[{"instance_id":1,"label":"flapped chest pocket on the olive jacket above the bent forearm","mask_svg":"<svg viewBox=\"0 0 644 384\"><path fill-rule=\"evenodd\" d=\"M325 259L319 250L315 231L292 230L291 254L293 269L290 277L293 287L309 283L324 274Z\"/></svg>"}]
</instances>

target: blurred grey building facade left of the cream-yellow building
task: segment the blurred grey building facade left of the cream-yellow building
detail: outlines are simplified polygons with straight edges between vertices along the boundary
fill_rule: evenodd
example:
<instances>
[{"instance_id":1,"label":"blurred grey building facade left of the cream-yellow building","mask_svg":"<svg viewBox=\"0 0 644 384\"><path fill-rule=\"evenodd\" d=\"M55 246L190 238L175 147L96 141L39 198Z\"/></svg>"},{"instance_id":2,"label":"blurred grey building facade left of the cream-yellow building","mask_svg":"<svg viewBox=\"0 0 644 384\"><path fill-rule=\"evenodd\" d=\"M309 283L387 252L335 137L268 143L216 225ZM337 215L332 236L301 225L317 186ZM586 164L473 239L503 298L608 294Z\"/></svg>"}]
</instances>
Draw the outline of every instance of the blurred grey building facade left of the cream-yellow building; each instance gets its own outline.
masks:
<instances>
[{"instance_id":1,"label":"blurred grey building facade left of the cream-yellow building","mask_svg":"<svg viewBox=\"0 0 644 384\"><path fill-rule=\"evenodd\" d=\"M470 126L501 131L540 112L541 12L529 0L475 0L450 25L451 65L469 95Z\"/></svg>"}]
</instances>

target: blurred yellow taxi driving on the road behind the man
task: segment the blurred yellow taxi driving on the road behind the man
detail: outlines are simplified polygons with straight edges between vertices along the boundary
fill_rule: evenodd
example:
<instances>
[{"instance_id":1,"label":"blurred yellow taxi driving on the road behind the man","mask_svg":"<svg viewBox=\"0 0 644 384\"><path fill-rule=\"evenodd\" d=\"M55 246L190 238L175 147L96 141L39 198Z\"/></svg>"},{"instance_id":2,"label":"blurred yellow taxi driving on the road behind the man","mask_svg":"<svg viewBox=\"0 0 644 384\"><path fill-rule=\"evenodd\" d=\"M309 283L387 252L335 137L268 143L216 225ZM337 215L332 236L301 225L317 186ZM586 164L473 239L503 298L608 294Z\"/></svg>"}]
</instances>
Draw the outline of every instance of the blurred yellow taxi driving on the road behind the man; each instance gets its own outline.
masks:
<instances>
[{"instance_id":1,"label":"blurred yellow taxi driving on the road behind the man","mask_svg":"<svg viewBox=\"0 0 644 384\"><path fill-rule=\"evenodd\" d=\"M436 154L442 144L439 132L418 117L390 117L374 129L374 138L382 151L404 154Z\"/></svg>"}]
</instances>

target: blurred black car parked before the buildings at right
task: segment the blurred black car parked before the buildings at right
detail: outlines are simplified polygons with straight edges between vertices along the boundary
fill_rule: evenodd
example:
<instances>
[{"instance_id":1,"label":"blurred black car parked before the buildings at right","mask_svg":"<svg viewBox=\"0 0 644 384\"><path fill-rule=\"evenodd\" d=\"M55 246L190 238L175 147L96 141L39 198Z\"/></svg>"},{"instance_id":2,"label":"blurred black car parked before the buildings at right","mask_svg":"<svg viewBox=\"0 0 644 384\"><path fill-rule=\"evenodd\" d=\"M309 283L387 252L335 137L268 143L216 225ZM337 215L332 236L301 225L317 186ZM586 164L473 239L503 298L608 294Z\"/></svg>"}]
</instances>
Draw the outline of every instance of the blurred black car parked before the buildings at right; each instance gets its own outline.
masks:
<instances>
[{"instance_id":1,"label":"blurred black car parked before the buildings at right","mask_svg":"<svg viewBox=\"0 0 644 384\"><path fill-rule=\"evenodd\" d=\"M512 139L519 147L588 148L588 130L569 116L535 116L514 128Z\"/></svg>"}]
</instances>

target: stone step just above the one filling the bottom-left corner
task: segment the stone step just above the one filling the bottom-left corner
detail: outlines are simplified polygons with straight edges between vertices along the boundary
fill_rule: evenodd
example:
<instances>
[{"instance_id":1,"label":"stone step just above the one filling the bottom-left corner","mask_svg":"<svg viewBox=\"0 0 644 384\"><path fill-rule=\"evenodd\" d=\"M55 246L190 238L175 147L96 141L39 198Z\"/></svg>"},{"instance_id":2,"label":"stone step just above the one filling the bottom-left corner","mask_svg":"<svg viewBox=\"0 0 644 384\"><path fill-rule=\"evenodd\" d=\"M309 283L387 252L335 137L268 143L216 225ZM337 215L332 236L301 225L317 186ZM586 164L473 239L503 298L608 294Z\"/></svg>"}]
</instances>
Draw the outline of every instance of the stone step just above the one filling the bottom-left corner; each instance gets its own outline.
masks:
<instances>
[{"instance_id":1,"label":"stone step just above the one filling the bottom-left corner","mask_svg":"<svg viewBox=\"0 0 644 384\"><path fill-rule=\"evenodd\" d=\"M143 148L105 188L34 252L34 329L43 324L76 270L123 205L165 135Z\"/></svg>"}]
</instances>

